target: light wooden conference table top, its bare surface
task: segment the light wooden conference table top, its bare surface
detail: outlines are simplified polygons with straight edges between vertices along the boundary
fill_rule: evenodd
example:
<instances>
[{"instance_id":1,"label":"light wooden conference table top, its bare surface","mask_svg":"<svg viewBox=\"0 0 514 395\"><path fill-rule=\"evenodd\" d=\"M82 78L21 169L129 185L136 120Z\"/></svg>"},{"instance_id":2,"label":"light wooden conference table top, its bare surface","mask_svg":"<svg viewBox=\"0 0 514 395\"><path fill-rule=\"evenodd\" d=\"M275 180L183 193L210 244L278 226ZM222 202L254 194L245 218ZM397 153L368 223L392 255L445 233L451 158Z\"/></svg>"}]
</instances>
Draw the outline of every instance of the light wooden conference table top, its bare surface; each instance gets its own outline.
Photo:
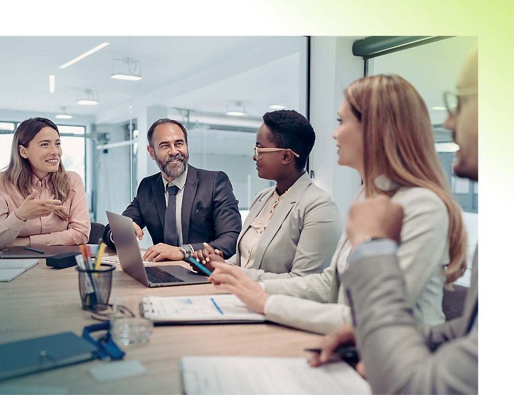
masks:
<instances>
[{"instance_id":1,"label":"light wooden conference table top, its bare surface","mask_svg":"<svg viewBox=\"0 0 514 395\"><path fill-rule=\"evenodd\" d=\"M114 255L113 252L109 255ZM185 262L166 262L182 264ZM209 295L218 293L212 284L147 288L124 273L113 272L111 303L119 302L138 314L143 296ZM78 272L75 267L57 270L45 260L10 282L0 282L0 343L61 332L82 336L88 325L97 324L81 309ZM103 361L89 361L0 382L16 385L61 386L76 394L178 394L181 393L178 361L183 355L303 356L304 347L318 346L321 336L275 324L156 326L142 345L120 346L124 360L138 360L148 373L99 383L88 369ZM1 388L1 387L0 387Z\"/></svg>"}]
</instances>

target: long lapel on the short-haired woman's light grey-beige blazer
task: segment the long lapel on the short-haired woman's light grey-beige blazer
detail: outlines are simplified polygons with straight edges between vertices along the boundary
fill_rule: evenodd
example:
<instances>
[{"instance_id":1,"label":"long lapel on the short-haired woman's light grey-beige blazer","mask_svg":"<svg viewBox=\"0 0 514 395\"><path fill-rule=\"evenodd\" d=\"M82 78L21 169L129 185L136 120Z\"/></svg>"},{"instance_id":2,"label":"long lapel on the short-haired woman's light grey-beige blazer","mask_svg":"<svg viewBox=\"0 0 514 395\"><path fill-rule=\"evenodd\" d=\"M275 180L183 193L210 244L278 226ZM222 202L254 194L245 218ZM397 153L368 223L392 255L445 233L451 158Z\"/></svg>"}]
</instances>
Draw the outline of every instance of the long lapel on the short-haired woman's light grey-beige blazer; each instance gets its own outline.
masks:
<instances>
[{"instance_id":1,"label":"long lapel on the short-haired woman's light grey-beige blazer","mask_svg":"<svg viewBox=\"0 0 514 395\"><path fill-rule=\"evenodd\" d=\"M287 192L287 194L284 197L284 200L280 203L279 207L277 207L277 209L273 213L273 217L271 217L271 220L269 221L266 230L263 232L261 236L261 240L257 245L257 249L255 250L255 258L253 259L252 266L253 268L258 269L259 267L261 267L262 259L264 257L264 253L266 252L266 248L268 248L268 245L271 242L271 240L273 240L273 238L277 235L277 232L282 227L282 223L288 216L293 205L295 205L295 203L300 199L304 190L310 184L312 184L310 177L307 175L307 173L304 173L300 178L298 178L296 183L292 185L291 189L289 189L289 192ZM267 200L264 201L264 204L266 204L266 202Z\"/></svg>"}]
</instances>

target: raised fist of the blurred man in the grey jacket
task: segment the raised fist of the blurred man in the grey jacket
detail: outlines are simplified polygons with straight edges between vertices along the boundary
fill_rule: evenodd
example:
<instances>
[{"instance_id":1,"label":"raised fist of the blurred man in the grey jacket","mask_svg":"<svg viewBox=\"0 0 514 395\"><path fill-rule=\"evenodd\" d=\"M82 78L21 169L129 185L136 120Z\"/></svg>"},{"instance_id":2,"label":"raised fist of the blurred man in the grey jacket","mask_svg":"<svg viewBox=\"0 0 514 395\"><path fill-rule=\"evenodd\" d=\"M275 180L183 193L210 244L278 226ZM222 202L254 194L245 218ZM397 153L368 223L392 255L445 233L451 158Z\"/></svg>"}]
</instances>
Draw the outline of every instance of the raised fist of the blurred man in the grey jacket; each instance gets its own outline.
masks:
<instances>
[{"instance_id":1,"label":"raised fist of the blurred man in the grey jacket","mask_svg":"<svg viewBox=\"0 0 514 395\"><path fill-rule=\"evenodd\" d=\"M400 242L403 208L386 195L368 197L354 203L348 211L346 234L353 245L362 243L366 236Z\"/></svg>"}]
</instances>

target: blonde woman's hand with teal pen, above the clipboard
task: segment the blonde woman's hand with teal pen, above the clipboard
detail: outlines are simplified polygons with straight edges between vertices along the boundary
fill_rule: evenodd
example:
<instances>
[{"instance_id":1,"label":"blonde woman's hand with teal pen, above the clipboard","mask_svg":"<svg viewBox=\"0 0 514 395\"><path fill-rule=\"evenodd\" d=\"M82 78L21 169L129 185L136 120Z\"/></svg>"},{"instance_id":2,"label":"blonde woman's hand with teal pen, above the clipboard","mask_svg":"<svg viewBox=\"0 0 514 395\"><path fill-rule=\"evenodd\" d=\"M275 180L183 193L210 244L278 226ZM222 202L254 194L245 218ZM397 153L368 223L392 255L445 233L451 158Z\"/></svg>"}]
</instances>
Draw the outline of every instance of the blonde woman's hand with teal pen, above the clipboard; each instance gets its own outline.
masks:
<instances>
[{"instance_id":1,"label":"blonde woman's hand with teal pen, above the clipboard","mask_svg":"<svg viewBox=\"0 0 514 395\"><path fill-rule=\"evenodd\" d=\"M251 310L264 314L264 304L269 295L264 292L259 283L243 273L241 267L225 262L211 262L215 268L209 277L217 290L234 294Z\"/></svg>"}]
</instances>

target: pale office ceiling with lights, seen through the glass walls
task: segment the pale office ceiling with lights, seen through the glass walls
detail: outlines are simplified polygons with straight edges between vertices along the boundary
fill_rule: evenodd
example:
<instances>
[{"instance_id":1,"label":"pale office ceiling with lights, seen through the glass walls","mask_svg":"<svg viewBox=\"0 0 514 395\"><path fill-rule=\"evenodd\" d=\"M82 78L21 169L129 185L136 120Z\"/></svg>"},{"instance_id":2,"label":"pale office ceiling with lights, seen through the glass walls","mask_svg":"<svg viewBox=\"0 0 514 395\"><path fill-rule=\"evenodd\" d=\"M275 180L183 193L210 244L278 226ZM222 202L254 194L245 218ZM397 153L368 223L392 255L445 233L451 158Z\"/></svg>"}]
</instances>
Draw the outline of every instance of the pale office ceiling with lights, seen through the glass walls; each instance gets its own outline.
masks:
<instances>
[{"instance_id":1,"label":"pale office ceiling with lights, seen through the glass walls","mask_svg":"<svg viewBox=\"0 0 514 395\"><path fill-rule=\"evenodd\" d=\"M372 60L370 71L410 81L426 100L432 123L439 124L445 112L431 107L443 104L441 92L454 86L474 41L456 37L395 52ZM109 45L59 68L104 42ZM58 114L65 106L73 115L116 123L152 105L224 115L229 101L240 100L247 121L259 124L270 105L301 105L305 48L306 38L291 36L1 36L0 110ZM129 57L141 63L143 79L111 78L112 60ZM49 92L50 75L55 93ZM98 92L99 104L76 104L78 89Z\"/></svg>"}]
</instances>

